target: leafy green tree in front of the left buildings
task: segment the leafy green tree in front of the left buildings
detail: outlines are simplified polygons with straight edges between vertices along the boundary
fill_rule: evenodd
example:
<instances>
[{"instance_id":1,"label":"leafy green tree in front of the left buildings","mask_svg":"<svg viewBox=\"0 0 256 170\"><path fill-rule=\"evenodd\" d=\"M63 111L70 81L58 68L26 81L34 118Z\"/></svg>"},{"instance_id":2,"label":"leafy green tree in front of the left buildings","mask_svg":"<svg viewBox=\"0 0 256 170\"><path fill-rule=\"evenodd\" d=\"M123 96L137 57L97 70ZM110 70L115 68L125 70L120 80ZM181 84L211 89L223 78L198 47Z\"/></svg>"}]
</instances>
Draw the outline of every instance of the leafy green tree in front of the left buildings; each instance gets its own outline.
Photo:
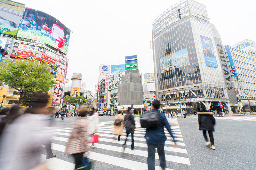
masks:
<instances>
[{"instance_id":1,"label":"leafy green tree in front of the left buildings","mask_svg":"<svg viewBox=\"0 0 256 170\"><path fill-rule=\"evenodd\" d=\"M19 104L22 105L30 105L25 100L31 93L48 92L55 85L48 65L30 60L1 63L0 80L20 92Z\"/></svg>"}]
</instances>

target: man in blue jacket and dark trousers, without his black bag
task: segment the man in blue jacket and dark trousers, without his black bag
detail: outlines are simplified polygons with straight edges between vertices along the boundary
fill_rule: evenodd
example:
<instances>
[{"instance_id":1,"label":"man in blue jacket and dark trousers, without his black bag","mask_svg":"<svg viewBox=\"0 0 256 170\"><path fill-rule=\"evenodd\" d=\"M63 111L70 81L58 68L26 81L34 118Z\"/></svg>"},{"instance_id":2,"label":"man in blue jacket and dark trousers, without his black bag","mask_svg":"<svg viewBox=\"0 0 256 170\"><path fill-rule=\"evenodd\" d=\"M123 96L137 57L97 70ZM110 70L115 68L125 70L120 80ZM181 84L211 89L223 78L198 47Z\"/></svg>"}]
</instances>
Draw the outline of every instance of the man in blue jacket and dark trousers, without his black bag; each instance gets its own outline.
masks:
<instances>
[{"instance_id":1,"label":"man in blue jacket and dark trousers, without his black bag","mask_svg":"<svg viewBox=\"0 0 256 170\"><path fill-rule=\"evenodd\" d=\"M165 115L161 114L158 111L159 106L160 106L159 100L153 101L152 106L151 106L152 110L158 112L159 125L157 125L155 127L147 128L146 134L145 134L145 138L146 138L147 144L148 144L148 159L147 159L148 170L155 170L156 148L157 148L157 153L158 153L159 160L160 160L160 166L162 167L162 170L165 169L166 161L165 161L165 154L164 154L164 143L165 143L167 137L165 136L165 133L164 133L164 126L168 130L169 134L172 136L173 141L174 141L174 146L178 147L178 145L176 144L176 141L172 135L172 130L167 121L167 118L165 117Z\"/></svg>"}]
</instances>

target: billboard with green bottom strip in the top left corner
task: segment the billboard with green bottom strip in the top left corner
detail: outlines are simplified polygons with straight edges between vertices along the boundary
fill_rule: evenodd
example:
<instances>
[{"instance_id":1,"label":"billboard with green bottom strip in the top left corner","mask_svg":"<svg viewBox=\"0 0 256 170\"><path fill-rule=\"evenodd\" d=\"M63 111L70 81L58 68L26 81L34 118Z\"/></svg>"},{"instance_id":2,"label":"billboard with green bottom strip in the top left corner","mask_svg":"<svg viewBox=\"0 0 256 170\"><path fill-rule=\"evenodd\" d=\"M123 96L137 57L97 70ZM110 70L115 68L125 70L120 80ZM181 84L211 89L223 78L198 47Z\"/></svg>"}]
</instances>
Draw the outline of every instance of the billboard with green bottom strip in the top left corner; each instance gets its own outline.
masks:
<instances>
[{"instance_id":1,"label":"billboard with green bottom strip in the top left corner","mask_svg":"<svg viewBox=\"0 0 256 170\"><path fill-rule=\"evenodd\" d=\"M25 4L9 0L0 1L0 33L16 35Z\"/></svg>"}]
</instances>

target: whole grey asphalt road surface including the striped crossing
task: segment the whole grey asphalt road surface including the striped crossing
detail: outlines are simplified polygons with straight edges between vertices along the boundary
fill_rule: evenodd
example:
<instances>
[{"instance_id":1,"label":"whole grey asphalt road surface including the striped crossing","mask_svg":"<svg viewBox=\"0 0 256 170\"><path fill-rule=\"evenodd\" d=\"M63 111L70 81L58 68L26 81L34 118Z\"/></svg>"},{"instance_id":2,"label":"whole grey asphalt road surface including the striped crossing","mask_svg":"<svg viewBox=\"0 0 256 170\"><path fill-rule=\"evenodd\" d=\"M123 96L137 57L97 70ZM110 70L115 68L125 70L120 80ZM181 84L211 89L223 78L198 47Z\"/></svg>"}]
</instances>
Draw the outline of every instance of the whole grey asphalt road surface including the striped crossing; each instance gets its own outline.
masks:
<instances>
[{"instance_id":1,"label":"whole grey asphalt road surface including the striped crossing","mask_svg":"<svg viewBox=\"0 0 256 170\"><path fill-rule=\"evenodd\" d=\"M75 119L65 117L62 122L60 118L53 118L53 126L57 129L52 137L52 151L57 157L49 159L52 170L74 169L73 157L63 152ZM123 134L121 141L117 142L117 138L111 134L113 121L114 116L100 116L100 143L92 147L88 155L93 160L93 169L147 169L147 145L139 117L135 118L135 150L131 151L131 138L128 137L124 155L121 151L126 137ZM168 118L168 121L179 147L174 148L172 137L166 131L166 169L255 169L256 116L217 117L213 134L216 150L204 145L197 117ZM44 151L42 161L45 155ZM156 169L161 169L157 153Z\"/></svg>"}]
</instances>

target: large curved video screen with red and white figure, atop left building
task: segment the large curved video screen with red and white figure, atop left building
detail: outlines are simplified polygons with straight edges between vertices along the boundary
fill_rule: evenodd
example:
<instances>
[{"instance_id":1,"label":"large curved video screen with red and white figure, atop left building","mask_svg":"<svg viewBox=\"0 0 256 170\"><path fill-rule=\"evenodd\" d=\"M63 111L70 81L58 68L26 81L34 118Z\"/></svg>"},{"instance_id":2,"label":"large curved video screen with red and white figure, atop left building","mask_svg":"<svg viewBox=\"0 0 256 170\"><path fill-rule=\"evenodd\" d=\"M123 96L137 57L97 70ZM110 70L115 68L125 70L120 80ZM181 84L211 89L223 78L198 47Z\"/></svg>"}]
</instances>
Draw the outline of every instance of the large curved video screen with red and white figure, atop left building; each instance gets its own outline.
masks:
<instances>
[{"instance_id":1,"label":"large curved video screen with red and white figure, atop left building","mask_svg":"<svg viewBox=\"0 0 256 170\"><path fill-rule=\"evenodd\" d=\"M26 8L17 37L40 41L67 54L70 30L42 11Z\"/></svg>"}]
</instances>

